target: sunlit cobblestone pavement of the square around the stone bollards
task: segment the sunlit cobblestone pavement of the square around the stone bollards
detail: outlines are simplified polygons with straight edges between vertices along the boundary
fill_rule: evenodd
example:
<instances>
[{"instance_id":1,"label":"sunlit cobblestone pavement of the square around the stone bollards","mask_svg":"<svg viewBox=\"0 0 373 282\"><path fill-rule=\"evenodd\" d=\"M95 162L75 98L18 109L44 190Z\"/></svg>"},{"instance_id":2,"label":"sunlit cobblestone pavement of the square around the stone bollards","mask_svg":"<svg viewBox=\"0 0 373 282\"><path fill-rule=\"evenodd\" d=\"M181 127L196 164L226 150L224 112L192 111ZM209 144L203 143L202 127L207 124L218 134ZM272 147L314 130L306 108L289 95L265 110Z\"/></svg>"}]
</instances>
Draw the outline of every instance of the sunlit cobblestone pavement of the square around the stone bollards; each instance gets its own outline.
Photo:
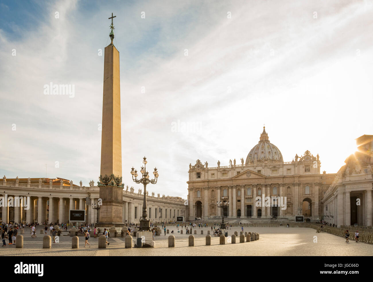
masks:
<instances>
[{"instance_id":1,"label":"sunlit cobblestone pavement of the square around the stone bollards","mask_svg":"<svg viewBox=\"0 0 373 282\"><path fill-rule=\"evenodd\" d=\"M167 228L167 227L166 227ZM177 229L175 227L169 228ZM201 235L203 230L203 235ZM51 249L43 249L43 236L38 234L37 238L31 238L27 229L23 234L23 249L16 249L15 245L1 247L0 255L255 255L255 256L291 256L291 255L310 255L310 256L353 256L353 255L373 255L373 245L366 243L356 243L350 241L346 243L345 239L328 233L316 233L316 230L310 228L292 227L245 227L244 232L251 231L260 234L260 240L254 242L239 243L239 238L236 239L236 244L227 243L219 245L219 238L211 236L211 245L205 245L205 237L209 228L198 229L195 237L195 246L188 247L188 235L173 233L164 233L155 238L155 248L144 249L125 249L124 238L109 238L110 245L106 249L98 249L98 238L90 238L89 242L92 245L84 248L84 237L79 236L79 249L71 249L71 237L60 236L60 243L52 243ZM184 230L185 231L185 230ZM228 235L234 234L234 231L239 231L239 227L232 227L228 230ZM194 233L194 231L193 231ZM167 238L169 235L175 235L175 248L168 248ZM314 236L317 236L317 243L314 243ZM8 243L8 242L7 242Z\"/></svg>"}]
</instances>

